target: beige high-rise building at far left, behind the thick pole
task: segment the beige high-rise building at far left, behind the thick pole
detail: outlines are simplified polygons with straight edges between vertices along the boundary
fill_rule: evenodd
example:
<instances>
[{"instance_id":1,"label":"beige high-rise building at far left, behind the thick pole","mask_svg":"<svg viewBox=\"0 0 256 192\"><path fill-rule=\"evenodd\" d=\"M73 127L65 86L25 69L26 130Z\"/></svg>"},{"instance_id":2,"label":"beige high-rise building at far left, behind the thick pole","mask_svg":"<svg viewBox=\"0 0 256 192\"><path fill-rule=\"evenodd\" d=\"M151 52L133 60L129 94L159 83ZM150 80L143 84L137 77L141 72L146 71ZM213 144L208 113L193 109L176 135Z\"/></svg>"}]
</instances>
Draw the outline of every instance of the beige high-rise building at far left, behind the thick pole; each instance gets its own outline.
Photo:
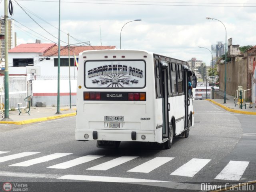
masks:
<instances>
[{"instance_id":1,"label":"beige high-rise building at far left, behind the thick pole","mask_svg":"<svg viewBox=\"0 0 256 192\"><path fill-rule=\"evenodd\" d=\"M14 48L16 37L14 32L14 20L8 19L8 50ZM4 34L4 20L0 20L0 34ZM0 59L4 58L4 39L0 40Z\"/></svg>"}]
</instances>

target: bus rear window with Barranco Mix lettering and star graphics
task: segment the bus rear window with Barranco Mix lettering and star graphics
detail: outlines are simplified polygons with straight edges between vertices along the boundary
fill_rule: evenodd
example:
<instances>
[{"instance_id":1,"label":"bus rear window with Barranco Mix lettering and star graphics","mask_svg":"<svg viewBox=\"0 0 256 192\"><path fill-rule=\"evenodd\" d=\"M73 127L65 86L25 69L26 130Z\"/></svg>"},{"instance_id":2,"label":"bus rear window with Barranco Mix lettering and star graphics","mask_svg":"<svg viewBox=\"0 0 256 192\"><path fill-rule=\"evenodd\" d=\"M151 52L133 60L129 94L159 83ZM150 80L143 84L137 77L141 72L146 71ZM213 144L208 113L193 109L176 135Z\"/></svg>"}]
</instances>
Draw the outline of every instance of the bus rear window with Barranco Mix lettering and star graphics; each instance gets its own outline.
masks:
<instances>
[{"instance_id":1,"label":"bus rear window with Barranco Mix lettering and star graphics","mask_svg":"<svg viewBox=\"0 0 256 192\"><path fill-rule=\"evenodd\" d=\"M146 63L144 60L86 61L86 88L144 88Z\"/></svg>"}]
</instances>

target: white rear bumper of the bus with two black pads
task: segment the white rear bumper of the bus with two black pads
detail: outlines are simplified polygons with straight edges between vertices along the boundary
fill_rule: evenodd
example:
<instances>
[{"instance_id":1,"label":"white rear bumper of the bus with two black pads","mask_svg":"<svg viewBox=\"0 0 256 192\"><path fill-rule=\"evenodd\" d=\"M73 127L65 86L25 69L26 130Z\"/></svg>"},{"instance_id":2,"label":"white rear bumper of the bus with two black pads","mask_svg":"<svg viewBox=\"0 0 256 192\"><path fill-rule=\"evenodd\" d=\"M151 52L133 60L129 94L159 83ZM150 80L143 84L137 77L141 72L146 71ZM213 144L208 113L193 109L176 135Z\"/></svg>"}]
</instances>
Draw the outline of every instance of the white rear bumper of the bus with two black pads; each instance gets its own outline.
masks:
<instances>
[{"instance_id":1,"label":"white rear bumper of the bus with two black pads","mask_svg":"<svg viewBox=\"0 0 256 192\"><path fill-rule=\"evenodd\" d=\"M134 134L134 132L136 132L136 134ZM88 138L84 137L86 134L88 135ZM136 136L134 137L134 135ZM76 140L156 142L155 131L146 130L76 129L75 136Z\"/></svg>"}]
</instances>

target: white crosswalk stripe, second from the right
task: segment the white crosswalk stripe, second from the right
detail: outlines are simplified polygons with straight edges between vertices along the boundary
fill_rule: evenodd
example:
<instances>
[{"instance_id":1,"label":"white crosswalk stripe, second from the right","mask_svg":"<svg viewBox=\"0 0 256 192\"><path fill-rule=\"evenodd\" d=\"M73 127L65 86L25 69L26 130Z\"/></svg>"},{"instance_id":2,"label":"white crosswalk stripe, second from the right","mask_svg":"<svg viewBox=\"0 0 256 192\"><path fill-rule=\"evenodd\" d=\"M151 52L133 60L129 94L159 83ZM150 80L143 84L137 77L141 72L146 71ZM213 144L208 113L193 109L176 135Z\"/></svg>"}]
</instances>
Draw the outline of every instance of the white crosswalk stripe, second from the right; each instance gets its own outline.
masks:
<instances>
[{"instance_id":1,"label":"white crosswalk stripe, second from the right","mask_svg":"<svg viewBox=\"0 0 256 192\"><path fill-rule=\"evenodd\" d=\"M196 159L193 158L189 162L185 163L171 175L193 177L198 171L200 171L206 164L210 162L210 159Z\"/></svg>"}]
</instances>

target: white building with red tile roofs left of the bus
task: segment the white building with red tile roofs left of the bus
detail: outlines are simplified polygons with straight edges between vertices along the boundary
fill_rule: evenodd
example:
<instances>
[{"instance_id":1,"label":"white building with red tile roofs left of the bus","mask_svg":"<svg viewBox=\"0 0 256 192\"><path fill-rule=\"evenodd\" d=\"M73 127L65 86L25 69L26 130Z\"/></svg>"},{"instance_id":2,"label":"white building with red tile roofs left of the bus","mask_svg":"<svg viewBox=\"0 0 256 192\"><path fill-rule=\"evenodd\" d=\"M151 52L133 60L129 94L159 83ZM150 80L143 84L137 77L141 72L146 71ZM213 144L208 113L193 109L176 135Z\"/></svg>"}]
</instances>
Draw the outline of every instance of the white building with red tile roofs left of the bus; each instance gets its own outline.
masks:
<instances>
[{"instance_id":1,"label":"white building with red tile roofs left of the bus","mask_svg":"<svg viewBox=\"0 0 256 192\"><path fill-rule=\"evenodd\" d=\"M104 49L116 49L116 46L70 46L69 68L68 46L60 47L60 106L70 105L70 92L71 104L76 104L77 66L74 65L74 58L78 59L78 54L85 50ZM8 59L10 75L28 77L28 95L31 95L32 106L37 106L39 102L45 102L46 106L57 105L58 45L20 44L9 50Z\"/></svg>"}]
</instances>

